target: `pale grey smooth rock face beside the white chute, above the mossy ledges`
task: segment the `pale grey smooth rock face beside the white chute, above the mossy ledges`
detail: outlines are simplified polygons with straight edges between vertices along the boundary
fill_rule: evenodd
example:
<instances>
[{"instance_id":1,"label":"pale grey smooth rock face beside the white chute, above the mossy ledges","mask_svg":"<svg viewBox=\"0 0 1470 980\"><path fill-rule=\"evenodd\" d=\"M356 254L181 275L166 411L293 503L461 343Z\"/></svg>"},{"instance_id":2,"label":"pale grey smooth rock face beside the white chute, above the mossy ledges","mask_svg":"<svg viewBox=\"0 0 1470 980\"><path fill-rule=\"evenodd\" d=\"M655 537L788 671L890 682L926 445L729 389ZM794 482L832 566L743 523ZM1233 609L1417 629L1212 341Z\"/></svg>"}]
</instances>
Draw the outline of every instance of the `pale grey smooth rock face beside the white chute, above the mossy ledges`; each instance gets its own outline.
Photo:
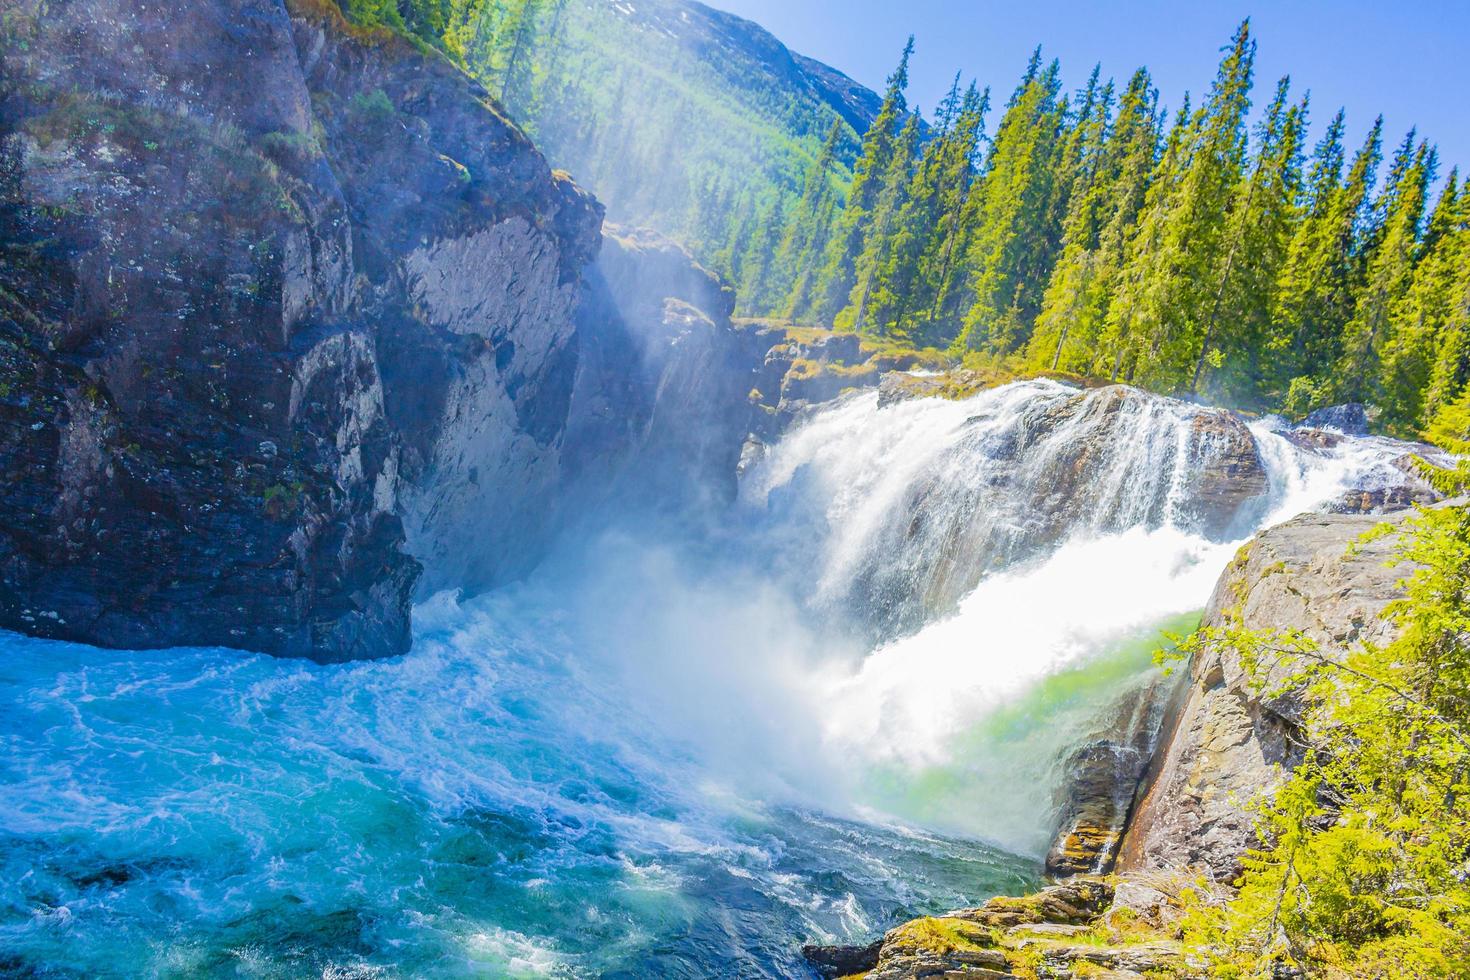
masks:
<instances>
[{"instance_id":1,"label":"pale grey smooth rock face beside the white chute, above the mossy ledges","mask_svg":"<svg viewBox=\"0 0 1470 980\"><path fill-rule=\"evenodd\" d=\"M1401 517L1396 517L1398 520ZM1394 635L1383 607L1410 570L1388 567L1395 541L1348 547L1379 517L1302 514L1245 545L1220 577L1205 626L1299 629L1323 652ZM1197 868L1219 882L1239 873L1255 843L1250 804L1301 761L1301 704L1286 666L1264 679L1261 696L1233 651L1197 657L1182 677L1179 707L1166 721L1163 755L1127 827L1122 871Z\"/></svg>"}]
</instances>

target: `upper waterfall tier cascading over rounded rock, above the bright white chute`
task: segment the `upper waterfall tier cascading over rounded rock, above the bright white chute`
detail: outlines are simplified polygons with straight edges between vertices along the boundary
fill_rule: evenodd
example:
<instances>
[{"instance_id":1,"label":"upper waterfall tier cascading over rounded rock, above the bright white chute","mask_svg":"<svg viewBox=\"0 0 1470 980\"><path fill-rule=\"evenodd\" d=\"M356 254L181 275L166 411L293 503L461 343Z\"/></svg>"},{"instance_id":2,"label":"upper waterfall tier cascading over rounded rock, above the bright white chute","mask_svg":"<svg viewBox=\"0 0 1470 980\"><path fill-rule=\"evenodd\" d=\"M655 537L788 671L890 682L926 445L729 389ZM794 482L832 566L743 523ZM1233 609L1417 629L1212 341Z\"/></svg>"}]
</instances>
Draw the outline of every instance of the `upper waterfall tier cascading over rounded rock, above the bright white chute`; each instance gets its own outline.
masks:
<instances>
[{"instance_id":1,"label":"upper waterfall tier cascading over rounded rock, above the bright white chute","mask_svg":"<svg viewBox=\"0 0 1470 980\"><path fill-rule=\"evenodd\" d=\"M1388 439L1302 448L1279 420L1248 428L1123 386L1029 381L888 407L867 392L786 435L742 500L775 526L772 560L816 561L814 605L891 636L1067 541L1135 529L1236 541L1349 486L1407 483L1392 466L1404 451Z\"/></svg>"}]
</instances>

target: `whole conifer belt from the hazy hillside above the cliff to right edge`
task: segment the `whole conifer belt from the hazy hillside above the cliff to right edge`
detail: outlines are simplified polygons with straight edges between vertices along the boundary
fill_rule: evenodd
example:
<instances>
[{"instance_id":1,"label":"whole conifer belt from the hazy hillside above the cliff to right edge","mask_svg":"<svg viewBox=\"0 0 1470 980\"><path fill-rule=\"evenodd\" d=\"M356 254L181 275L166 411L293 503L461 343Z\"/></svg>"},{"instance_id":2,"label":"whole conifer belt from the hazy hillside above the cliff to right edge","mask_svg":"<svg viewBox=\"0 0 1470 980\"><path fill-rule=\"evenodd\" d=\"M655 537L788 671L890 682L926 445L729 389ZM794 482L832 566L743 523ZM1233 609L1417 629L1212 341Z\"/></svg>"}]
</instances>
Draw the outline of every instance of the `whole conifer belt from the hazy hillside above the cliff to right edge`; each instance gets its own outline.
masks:
<instances>
[{"instance_id":1,"label":"whole conifer belt from the hazy hillside above the cliff to right edge","mask_svg":"<svg viewBox=\"0 0 1470 980\"><path fill-rule=\"evenodd\" d=\"M1145 68L1066 91L1038 50L1010 93L957 76L923 118L906 96L910 40L858 140L776 93L711 107L729 79L689 66L641 97L603 84L598 50L629 38L585 4L410 7L554 162L566 147L573 173L686 241L745 316L1252 410L1364 401L1404 432L1470 378L1458 173L1417 132L1395 141L1289 78L1257 79L1248 22L1177 106ZM628 116L731 145L670 181L653 160L626 166L663 143L629 137Z\"/></svg>"}]
</instances>

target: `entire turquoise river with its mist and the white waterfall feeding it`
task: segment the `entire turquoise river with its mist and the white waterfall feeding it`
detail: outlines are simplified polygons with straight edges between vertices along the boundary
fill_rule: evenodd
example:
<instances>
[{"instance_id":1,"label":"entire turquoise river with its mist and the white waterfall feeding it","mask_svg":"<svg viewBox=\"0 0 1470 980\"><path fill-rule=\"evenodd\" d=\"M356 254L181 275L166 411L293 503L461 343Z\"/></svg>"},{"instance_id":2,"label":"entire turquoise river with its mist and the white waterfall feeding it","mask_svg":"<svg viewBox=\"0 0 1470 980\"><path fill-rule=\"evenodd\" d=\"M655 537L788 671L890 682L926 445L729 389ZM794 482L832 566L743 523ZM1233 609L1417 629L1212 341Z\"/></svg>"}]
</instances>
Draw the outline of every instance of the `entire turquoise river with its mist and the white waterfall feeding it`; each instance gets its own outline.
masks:
<instances>
[{"instance_id":1,"label":"entire turquoise river with its mist and the white waterfall feeding it","mask_svg":"<svg viewBox=\"0 0 1470 980\"><path fill-rule=\"evenodd\" d=\"M1239 539L1405 479L1258 422L1222 517L1201 410L1111 397L844 398L717 527L609 523L391 661L0 635L0 974L804 976L1030 887Z\"/></svg>"}]
</instances>

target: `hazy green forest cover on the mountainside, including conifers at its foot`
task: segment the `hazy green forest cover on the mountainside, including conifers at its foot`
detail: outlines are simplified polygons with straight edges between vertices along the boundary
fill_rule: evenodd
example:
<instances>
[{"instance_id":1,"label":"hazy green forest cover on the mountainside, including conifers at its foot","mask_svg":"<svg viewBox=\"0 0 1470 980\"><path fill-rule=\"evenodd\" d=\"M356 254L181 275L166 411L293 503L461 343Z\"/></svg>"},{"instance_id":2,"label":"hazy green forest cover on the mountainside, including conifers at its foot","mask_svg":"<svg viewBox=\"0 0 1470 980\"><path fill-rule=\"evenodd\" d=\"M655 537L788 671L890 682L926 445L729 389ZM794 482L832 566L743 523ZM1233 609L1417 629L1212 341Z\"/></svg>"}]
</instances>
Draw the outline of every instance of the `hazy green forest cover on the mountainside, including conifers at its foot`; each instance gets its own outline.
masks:
<instances>
[{"instance_id":1,"label":"hazy green forest cover on the mountainside, including conifers at its foot","mask_svg":"<svg viewBox=\"0 0 1470 980\"><path fill-rule=\"evenodd\" d=\"M398 0L422 3L447 10L441 47L612 220L682 239L736 287L741 311L807 306L858 143L836 96L717 12Z\"/></svg>"}]
</instances>

